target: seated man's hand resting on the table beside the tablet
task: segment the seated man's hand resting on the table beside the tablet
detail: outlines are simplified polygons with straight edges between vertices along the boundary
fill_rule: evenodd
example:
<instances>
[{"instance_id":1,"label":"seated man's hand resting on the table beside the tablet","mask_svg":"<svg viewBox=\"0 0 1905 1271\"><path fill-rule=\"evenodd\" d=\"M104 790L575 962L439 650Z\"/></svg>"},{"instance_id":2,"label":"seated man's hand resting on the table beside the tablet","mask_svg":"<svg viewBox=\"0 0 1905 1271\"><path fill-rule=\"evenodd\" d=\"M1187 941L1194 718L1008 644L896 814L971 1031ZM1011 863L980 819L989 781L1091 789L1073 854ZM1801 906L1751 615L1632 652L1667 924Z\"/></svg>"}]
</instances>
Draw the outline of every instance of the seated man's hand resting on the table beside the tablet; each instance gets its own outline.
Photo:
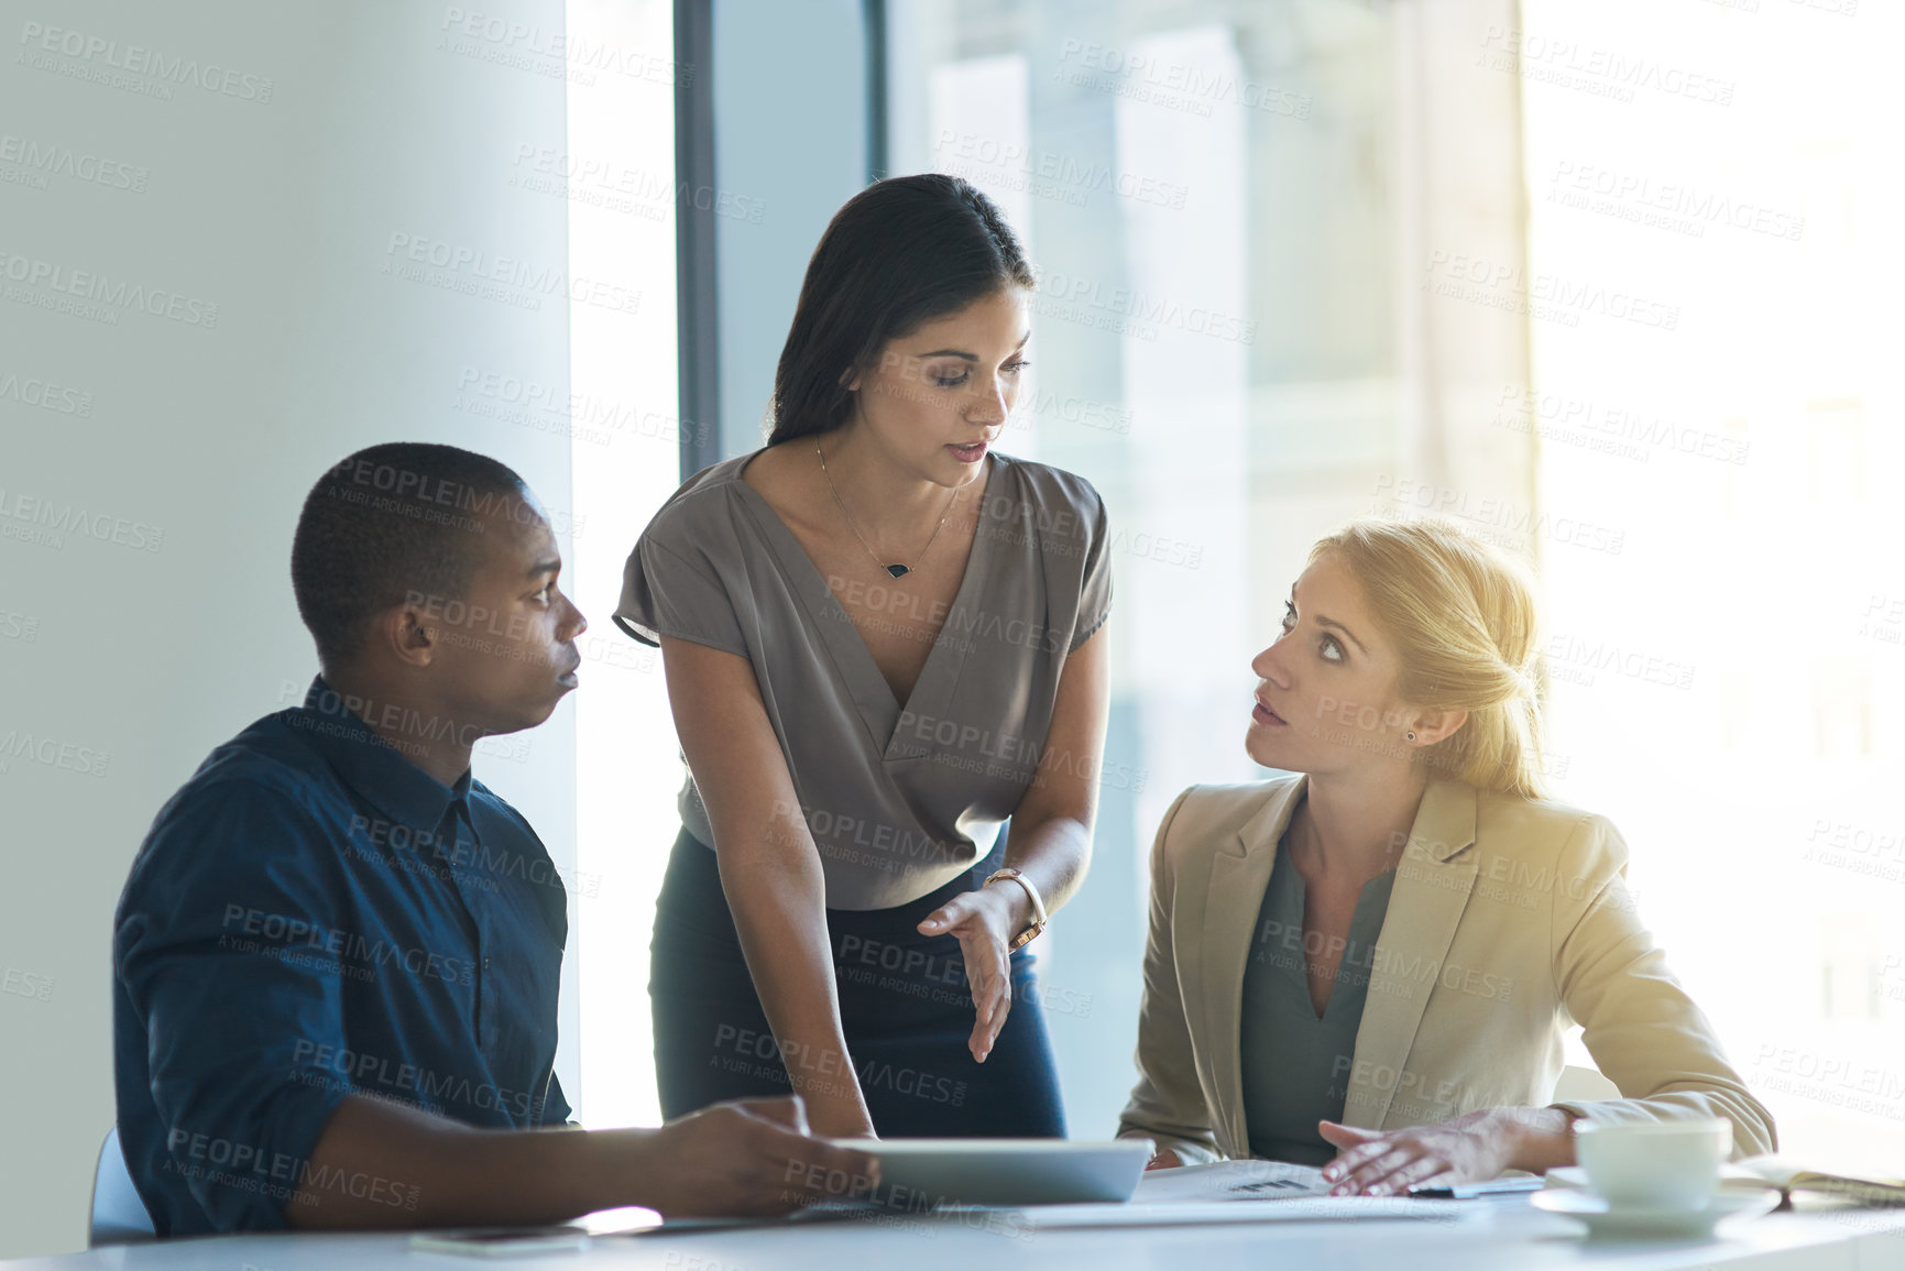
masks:
<instances>
[{"instance_id":1,"label":"seated man's hand resting on the table beside the tablet","mask_svg":"<svg viewBox=\"0 0 1905 1271\"><path fill-rule=\"evenodd\" d=\"M634 1204L667 1218L752 1218L871 1191L880 1164L808 1138L800 1098L739 1100L652 1132L629 1160Z\"/></svg>"}]
</instances>

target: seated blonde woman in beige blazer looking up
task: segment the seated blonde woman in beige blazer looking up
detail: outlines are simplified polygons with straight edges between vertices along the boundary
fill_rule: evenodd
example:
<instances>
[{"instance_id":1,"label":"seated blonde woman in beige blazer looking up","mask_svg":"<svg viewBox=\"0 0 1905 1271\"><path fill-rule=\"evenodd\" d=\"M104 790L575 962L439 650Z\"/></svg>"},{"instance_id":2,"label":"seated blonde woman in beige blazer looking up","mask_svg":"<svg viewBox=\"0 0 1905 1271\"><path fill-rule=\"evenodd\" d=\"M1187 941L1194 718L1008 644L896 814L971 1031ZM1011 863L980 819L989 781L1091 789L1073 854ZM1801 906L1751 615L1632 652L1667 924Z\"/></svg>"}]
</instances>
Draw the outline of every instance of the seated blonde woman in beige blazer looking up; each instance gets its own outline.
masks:
<instances>
[{"instance_id":1,"label":"seated blonde woman in beige blazer looking up","mask_svg":"<svg viewBox=\"0 0 1905 1271\"><path fill-rule=\"evenodd\" d=\"M1255 1155L1246 1080L1263 1103L1293 1098L1286 1119L1305 1098L1341 1107L1301 1122L1318 1160L1334 1151L1337 1193L1572 1164L1577 1117L1724 1117L1735 1157L1775 1147L1634 913L1619 833L1541 798L1532 595L1446 522L1354 522L1313 551L1252 663L1244 741L1295 776L1187 789L1153 848L1139 1080L1118 1132L1154 1140L1154 1168ZM1288 922L1263 917L1278 859ZM1288 968L1280 989L1252 970L1265 949ZM1360 1021L1332 1025L1353 1046L1290 1050L1311 1019L1274 993L1305 987L1318 1039L1332 995L1362 995ZM1290 1027L1267 1037L1246 1008ZM1619 1100L1551 1103L1570 1023ZM1330 1088L1290 1096L1278 1069L1328 1071Z\"/></svg>"}]
</instances>

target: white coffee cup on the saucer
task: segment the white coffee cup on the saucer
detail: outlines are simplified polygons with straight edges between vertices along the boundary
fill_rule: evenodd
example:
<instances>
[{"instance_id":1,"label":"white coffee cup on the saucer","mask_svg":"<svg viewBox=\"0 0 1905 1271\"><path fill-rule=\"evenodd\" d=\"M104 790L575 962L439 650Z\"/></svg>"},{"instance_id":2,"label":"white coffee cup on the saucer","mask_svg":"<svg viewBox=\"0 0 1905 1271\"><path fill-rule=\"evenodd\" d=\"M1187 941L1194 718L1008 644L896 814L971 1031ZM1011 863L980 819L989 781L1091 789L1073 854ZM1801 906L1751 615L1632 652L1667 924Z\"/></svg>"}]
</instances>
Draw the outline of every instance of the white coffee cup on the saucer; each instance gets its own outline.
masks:
<instances>
[{"instance_id":1,"label":"white coffee cup on the saucer","mask_svg":"<svg viewBox=\"0 0 1905 1271\"><path fill-rule=\"evenodd\" d=\"M1619 1206L1703 1208L1732 1151L1734 1122L1724 1117L1574 1126L1574 1157L1589 1189Z\"/></svg>"}]
</instances>

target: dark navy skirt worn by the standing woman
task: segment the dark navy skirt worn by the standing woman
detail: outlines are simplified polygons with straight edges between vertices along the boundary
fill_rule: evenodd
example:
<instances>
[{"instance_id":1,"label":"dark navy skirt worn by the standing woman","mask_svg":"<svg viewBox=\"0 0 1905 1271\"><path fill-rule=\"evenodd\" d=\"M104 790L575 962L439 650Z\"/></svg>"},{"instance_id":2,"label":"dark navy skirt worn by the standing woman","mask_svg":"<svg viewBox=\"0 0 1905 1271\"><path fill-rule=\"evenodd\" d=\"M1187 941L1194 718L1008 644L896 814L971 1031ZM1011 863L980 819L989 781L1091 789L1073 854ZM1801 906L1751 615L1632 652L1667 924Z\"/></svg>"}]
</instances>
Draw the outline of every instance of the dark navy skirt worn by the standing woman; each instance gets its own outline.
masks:
<instances>
[{"instance_id":1,"label":"dark navy skirt worn by the standing woman","mask_svg":"<svg viewBox=\"0 0 1905 1271\"><path fill-rule=\"evenodd\" d=\"M914 930L998 865L981 861L911 905L827 911L840 1021L880 1138L1065 1138L1033 955L1012 955L1012 1014L993 1054L973 1063L966 1050L973 1004L958 939ZM838 1059L783 1056L775 1046L714 850L686 829L669 854L650 951L663 1117L787 1094L787 1073L796 1067L808 1080L844 1075Z\"/></svg>"}]
</instances>

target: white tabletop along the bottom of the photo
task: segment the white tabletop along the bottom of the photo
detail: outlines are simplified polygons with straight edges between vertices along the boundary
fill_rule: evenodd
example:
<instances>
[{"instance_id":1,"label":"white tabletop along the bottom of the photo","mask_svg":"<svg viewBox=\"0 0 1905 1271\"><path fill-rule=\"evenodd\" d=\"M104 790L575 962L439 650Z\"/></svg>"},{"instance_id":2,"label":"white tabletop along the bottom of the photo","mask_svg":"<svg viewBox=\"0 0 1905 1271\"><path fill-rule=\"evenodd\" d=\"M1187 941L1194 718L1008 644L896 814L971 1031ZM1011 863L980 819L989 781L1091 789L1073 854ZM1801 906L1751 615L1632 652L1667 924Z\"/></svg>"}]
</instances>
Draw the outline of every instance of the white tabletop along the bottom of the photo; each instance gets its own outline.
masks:
<instances>
[{"instance_id":1,"label":"white tabletop along the bottom of the photo","mask_svg":"<svg viewBox=\"0 0 1905 1271\"><path fill-rule=\"evenodd\" d=\"M1248 1204L1248 1202L1246 1202ZM1271 1202L1273 1204L1273 1202ZM1522 1271L1539 1267L1633 1267L1669 1271L1739 1267L1755 1271L1905 1269L1905 1210L1808 1210L1768 1214L1694 1244L1587 1242L1562 1218L1526 1200L1478 1200L1457 1221L1303 1221L1019 1231L1002 1235L949 1218L890 1220L884 1225L823 1223L697 1233L598 1237L587 1252L533 1260L461 1258L417 1252L402 1235L211 1237L128 1244L6 1261L0 1267L70 1271L1217 1271L1229 1267L1347 1267L1368 1271Z\"/></svg>"}]
</instances>

